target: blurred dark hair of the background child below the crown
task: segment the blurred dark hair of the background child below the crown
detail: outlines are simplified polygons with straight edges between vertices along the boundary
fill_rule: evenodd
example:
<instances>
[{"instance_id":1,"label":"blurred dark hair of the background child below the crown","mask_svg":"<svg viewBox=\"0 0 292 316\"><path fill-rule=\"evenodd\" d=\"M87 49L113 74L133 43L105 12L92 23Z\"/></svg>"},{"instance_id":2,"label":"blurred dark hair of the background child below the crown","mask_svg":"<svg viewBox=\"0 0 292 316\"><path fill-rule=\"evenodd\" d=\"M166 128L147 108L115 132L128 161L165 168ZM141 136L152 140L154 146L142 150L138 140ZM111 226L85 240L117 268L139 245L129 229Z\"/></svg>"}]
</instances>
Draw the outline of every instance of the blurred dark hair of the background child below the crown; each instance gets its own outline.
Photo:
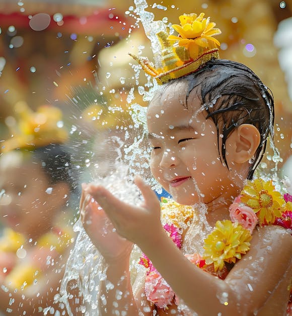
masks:
<instances>
[{"instance_id":1,"label":"blurred dark hair of the background child below the crown","mask_svg":"<svg viewBox=\"0 0 292 316\"><path fill-rule=\"evenodd\" d=\"M50 185L65 182L69 185L70 192L75 191L77 177L72 169L70 153L63 144L51 143L30 152L32 160L40 163Z\"/></svg>"}]
</instances>

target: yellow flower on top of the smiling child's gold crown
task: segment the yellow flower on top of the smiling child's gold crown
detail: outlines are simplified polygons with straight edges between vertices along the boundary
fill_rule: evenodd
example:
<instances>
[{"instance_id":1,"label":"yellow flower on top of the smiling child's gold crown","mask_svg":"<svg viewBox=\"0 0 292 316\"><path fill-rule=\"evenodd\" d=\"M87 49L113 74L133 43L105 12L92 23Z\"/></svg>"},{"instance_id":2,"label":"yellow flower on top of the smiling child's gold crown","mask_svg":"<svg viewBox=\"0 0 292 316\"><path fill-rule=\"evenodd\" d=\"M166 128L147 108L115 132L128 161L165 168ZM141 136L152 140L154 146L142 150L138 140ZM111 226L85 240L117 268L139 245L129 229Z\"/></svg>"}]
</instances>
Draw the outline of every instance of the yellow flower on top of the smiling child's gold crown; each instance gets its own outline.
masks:
<instances>
[{"instance_id":1,"label":"yellow flower on top of the smiling child's gold crown","mask_svg":"<svg viewBox=\"0 0 292 316\"><path fill-rule=\"evenodd\" d=\"M220 46L220 42L212 36L221 34L221 30L214 28L216 24L209 22L209 18L205 19L203 17L204 13L201 13L198 17L196 14L180 16L181 26L172 25L180 36L170 35L167 38L171 41L178 41L179 46L184 46L193 59L198 57L199 47L213 47L213 43Z\"/></svg>"}]
</instances>

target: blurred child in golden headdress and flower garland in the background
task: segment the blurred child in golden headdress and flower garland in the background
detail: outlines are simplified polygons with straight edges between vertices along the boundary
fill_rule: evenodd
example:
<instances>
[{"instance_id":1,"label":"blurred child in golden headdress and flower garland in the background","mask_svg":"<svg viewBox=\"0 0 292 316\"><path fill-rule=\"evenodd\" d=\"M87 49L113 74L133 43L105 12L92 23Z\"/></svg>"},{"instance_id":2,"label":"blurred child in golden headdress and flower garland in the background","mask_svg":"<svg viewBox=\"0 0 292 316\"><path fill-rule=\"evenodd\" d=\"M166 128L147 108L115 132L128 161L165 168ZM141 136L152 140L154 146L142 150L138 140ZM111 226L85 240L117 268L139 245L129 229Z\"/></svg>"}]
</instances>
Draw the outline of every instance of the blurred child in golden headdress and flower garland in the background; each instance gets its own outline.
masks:
<instances>
[{"instance_id":1,"label":"blurred child in golden headdress and flower garland in the background","mask_svg":"<svg viewBox=\"0 0 292 316\"><path fill-rule=\"evenodd\" d=\"M0 156L0 314L32 315L64 310L53 304L62 279L72 229L66 211L74 190L67 134L59 109L18 107L14 138ZM17 126L14 126L14 131ZM71 214L72 216L72 214Z\"/></svg>"}]
</instances>

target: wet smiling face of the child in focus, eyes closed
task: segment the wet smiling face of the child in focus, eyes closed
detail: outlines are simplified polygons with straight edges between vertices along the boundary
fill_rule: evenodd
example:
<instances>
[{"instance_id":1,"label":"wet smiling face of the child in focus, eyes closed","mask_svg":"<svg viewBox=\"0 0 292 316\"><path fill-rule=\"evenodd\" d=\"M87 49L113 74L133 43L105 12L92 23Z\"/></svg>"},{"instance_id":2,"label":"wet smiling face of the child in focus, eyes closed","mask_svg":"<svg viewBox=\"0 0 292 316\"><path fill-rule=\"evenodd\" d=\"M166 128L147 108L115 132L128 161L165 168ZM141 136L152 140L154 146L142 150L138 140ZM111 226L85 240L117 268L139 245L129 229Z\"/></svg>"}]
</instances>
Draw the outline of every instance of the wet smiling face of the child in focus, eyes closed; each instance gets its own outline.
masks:
<instances>
[{"instance_id":1,"label":"wet smiling face of the child in focus, eyes closed","mask_svg":"<svg viewBox=\"0 0 292 316\"><path fill-rule=\"evenodd\" d=\"M209 203L233 189L232 179L218 154L213 121L200 111L196 91L188 98L189 109L185 108L185 91L185 82L170 85L149 106L151 171L177 202Z\"/></svg>"}]
</instances>

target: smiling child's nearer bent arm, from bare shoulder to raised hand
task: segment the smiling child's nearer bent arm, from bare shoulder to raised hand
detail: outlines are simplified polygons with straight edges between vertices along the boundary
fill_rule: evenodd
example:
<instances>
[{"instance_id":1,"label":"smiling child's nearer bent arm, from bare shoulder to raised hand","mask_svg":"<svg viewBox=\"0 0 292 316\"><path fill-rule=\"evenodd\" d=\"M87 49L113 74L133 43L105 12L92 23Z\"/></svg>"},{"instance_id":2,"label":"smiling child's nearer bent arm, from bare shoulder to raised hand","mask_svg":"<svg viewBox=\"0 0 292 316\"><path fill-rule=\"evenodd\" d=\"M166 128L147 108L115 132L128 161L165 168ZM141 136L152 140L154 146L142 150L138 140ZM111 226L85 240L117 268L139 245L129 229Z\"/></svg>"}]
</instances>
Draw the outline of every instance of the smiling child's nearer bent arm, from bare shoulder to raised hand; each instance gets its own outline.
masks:
<instances>
[{"instance_id":1,"label":"smiling child's nearer bent arm, from bare shoulder to raised hand","mask_svg":"<svg viewBox=\"0 0 292 316\"><path fill-rule=\"evenodd\" d=\"M92 186L88 192L107 212L117 232L141 248L190 308L202 315L237 314L239 310L248 314L263 308L276 287L287 289L292 239L282 228L267 226L255 231L251 250L223 281L194 267L182 255L160 224L155 194L140 179L136 184L144 196L142 207L125 204L102 187ZM288 291L284 293L281 302L285 305Z\"/></svg>"}]
</instances>

